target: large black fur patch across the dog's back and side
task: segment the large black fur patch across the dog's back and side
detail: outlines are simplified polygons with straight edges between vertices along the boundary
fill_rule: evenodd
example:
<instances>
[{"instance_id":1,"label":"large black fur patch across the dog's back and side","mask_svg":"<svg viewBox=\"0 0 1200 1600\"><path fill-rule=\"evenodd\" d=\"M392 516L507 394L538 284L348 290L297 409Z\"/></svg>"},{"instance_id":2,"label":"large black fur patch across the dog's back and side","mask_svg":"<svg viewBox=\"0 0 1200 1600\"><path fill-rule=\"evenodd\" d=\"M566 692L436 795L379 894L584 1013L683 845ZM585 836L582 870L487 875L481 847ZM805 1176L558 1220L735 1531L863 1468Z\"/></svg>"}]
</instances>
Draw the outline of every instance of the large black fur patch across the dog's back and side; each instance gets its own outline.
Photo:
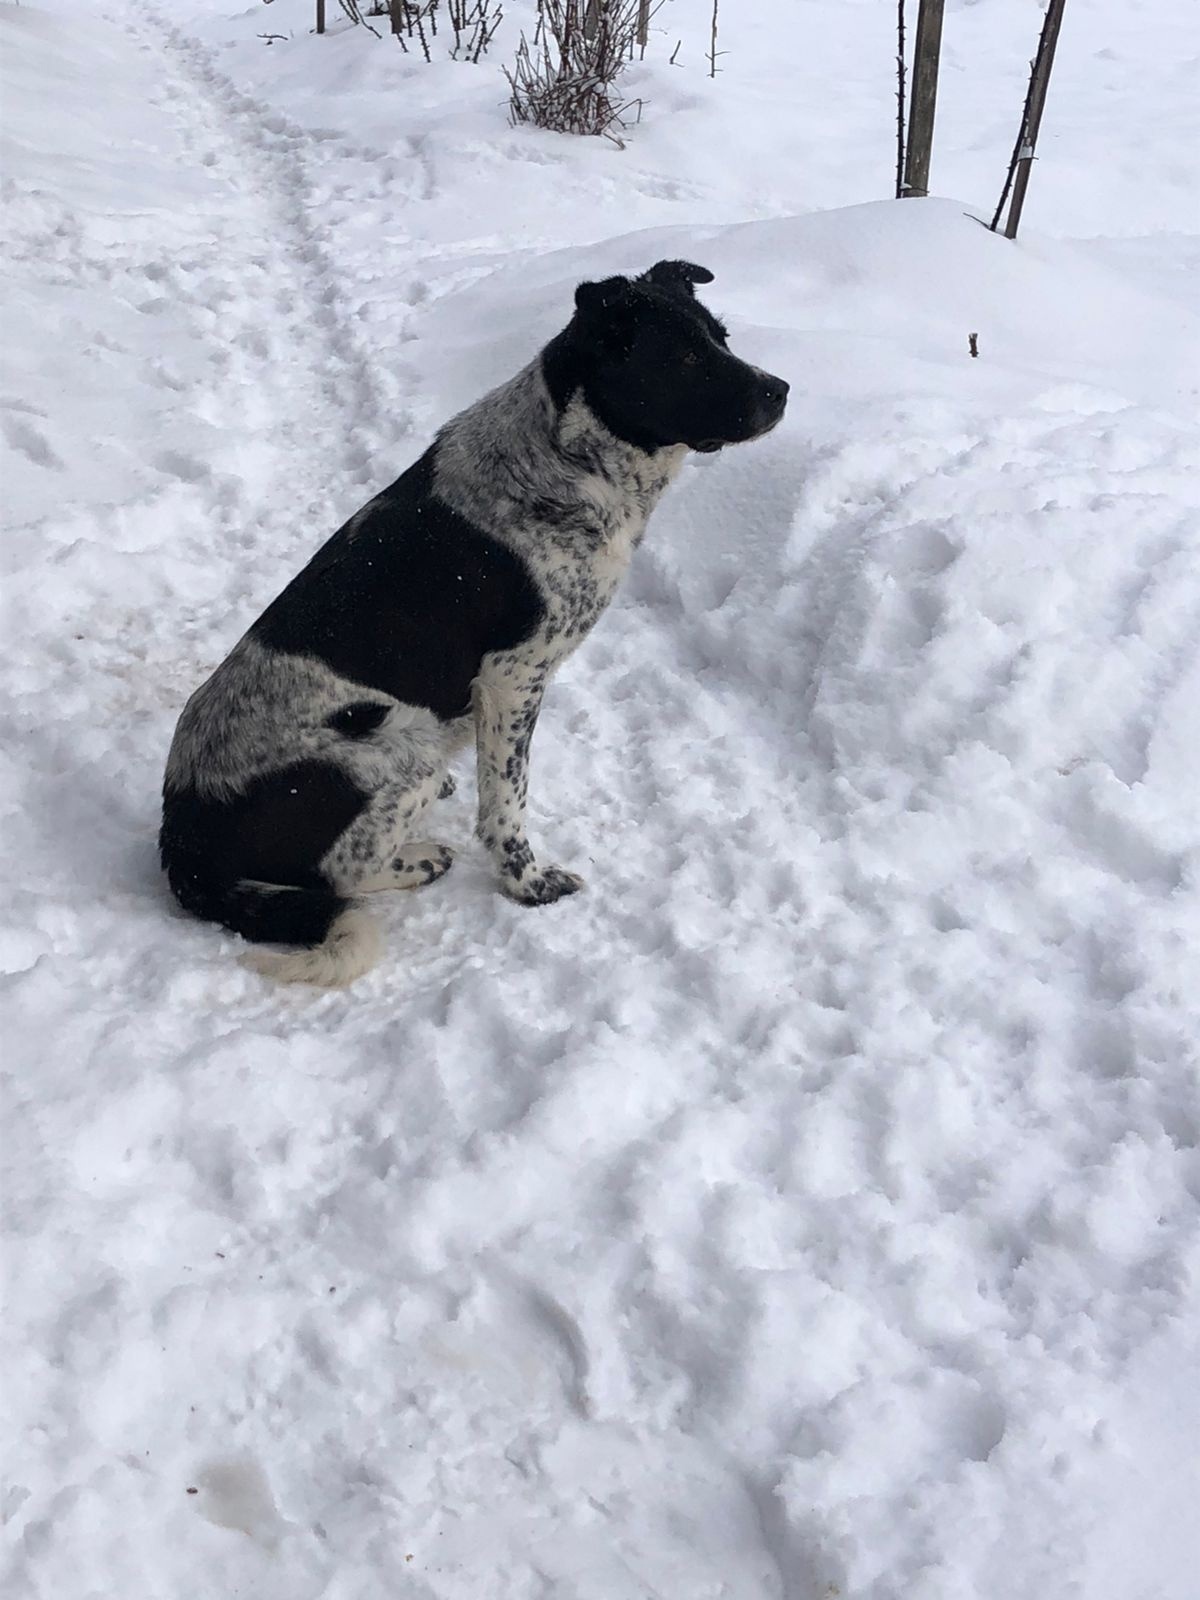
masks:
<instances>
[{"instance_id":1,"label":"large black fur patch across the dog's back and side","mask_svg":"<svg viewBox=\"0 0 1200 1600\"><path fill-rule=\"evenodd\" d=\"M435 450L322 546L251 637L450 722L483 656L526 640L544 608L520 557L434 494Z\"/></svg>"}]
</instances>

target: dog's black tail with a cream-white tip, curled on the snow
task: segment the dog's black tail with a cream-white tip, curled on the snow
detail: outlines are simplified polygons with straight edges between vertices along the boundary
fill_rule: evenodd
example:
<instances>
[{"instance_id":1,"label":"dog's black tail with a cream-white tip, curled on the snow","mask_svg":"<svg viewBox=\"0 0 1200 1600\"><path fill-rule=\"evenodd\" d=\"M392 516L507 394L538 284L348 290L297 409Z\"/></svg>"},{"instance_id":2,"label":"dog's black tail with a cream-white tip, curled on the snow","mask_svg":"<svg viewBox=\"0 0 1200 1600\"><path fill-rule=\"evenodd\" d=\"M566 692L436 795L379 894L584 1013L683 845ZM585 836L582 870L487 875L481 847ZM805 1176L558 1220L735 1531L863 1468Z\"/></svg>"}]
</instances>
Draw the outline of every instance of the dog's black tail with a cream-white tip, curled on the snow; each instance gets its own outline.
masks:
<instances>
[{"instance_id":1,"label":"dog's black tail with a cream-white tip, curled on the snow","mask_svg":"<svg viewBox=\"0 0 1200 1600\"><path fill-rule=\"evenodd\" d=\"M245 966L277 982L342 989L379 960L374 920L326 885L216 882L179 856L168 861L168 882L194 917L219 922L251 944L293 946L242 957Z\"/></svg>"}]
</instances>

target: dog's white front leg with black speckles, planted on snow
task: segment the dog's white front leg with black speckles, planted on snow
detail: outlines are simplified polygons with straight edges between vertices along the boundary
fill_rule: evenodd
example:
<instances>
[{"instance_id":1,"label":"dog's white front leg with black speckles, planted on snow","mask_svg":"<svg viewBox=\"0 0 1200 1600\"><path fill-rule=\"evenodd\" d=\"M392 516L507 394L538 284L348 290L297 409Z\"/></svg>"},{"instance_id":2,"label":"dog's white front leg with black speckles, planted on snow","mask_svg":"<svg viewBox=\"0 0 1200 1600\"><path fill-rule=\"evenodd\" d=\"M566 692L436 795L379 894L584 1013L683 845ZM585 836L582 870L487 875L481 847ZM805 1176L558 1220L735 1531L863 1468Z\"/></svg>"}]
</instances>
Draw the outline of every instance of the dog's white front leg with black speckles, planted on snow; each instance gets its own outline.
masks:
<instances>
[{"instance_id":1,"label":"dog's white front leg with black speckles, planted on snow","mask_svg":"<svg viewBox=\"0 0 1200 1600\"><path fill-rule=\"evenodd\" d=\"M475 682L478 837L496 864L501 888L523 906L574 894L584 880L563 867L539 867L525 837L530 742L546 691L546 667L502 672Z\"/></svg>"}]
</instances>

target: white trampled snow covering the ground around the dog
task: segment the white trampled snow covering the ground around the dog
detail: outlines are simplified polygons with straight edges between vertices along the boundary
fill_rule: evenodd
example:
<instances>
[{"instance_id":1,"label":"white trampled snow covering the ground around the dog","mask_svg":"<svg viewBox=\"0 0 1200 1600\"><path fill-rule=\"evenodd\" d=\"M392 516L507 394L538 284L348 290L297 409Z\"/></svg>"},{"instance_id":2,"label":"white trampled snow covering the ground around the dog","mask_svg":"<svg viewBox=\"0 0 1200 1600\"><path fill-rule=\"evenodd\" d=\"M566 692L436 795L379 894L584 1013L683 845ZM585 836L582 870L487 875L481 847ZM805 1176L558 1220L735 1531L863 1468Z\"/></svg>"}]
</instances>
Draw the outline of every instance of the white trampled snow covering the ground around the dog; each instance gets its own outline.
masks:
<instances>
[{"instance_id":1,"label":"white trampled snow covering the ground around the dog","mask_svg":"<svg viewBox=\"0 0 1200 1600\"><path fill-rule=\"evenodd\" d=\"M950 0L899 205L885 0L715 83L672 0L624 150L507 126L528 14L0 5L5 1592L1190 1600L1194 0L1067 6L1016 245L1034 0ZM664 254L792 403L550 693L589 893L493 891L464 766L384 963L266 986L158 877L186 696Z\"/></svg>"}]
</instances>

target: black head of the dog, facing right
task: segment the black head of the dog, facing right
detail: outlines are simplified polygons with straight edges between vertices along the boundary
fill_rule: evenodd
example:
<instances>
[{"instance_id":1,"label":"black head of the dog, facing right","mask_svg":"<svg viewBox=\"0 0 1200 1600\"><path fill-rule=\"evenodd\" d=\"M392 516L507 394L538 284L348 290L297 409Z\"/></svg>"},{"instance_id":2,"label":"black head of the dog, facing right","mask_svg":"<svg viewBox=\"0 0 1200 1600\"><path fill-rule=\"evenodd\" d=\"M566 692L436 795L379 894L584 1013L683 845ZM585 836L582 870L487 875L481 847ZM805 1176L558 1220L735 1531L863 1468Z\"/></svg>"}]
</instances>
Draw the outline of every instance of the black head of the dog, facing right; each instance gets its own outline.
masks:
<instances>
[{"instance_id":1,"label":"black head of the dog, facing right","mask_svg":"<svg viewBox=\"0 0 1200 1600\"><path fill-rule=\"evenodd\" d=\"M739 360L696 299L712 274L659 261L638 278L581 283L560 366L610 432L642 450L720 450L768 434L784 414L782 378Z\"/></svg>"}]
</instances>

